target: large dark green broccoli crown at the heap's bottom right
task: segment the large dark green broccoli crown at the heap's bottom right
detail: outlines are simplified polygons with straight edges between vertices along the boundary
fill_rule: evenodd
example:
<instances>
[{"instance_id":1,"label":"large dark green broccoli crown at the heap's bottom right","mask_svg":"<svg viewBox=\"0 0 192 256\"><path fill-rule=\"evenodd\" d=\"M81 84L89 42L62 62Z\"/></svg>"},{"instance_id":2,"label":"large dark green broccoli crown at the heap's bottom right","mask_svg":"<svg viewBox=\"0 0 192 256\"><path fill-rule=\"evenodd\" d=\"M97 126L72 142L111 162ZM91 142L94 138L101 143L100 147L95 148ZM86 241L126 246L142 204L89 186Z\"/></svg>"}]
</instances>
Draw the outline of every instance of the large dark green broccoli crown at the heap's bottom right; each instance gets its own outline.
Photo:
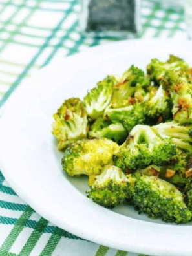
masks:
<instances>
[{"instance_id":1,"label":"large dark green broccoli crown at the heap's bottom right","mask_svg":"<svg viewBox=\"0 0 192 256\"><path fill-rule=\"evenodd\" d=\"M182 193L154 176L143 175L136 179L133 204L140 213L147 213L152 219L160 217L165 222L187 223L192 216Z\"/></svg>"}]
</instances>

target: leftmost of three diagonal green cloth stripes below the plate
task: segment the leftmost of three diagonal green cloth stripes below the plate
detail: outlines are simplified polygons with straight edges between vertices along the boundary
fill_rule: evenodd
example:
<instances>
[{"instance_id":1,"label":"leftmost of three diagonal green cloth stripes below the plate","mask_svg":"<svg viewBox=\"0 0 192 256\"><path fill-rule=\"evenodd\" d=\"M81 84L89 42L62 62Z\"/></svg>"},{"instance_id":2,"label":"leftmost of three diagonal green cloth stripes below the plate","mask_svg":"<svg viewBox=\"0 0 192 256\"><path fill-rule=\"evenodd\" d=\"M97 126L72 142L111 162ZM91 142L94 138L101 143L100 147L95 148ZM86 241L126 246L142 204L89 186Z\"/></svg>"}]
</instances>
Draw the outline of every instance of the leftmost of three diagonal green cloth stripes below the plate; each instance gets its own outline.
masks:
<instances>
[{"instance_id":1,"label":"leftmost of three diagonal green cloth stripes below the plate","mask_svg":"<svg viewBox=\"0 0 192 256\"><path fill-rule=\"evenodd\" d=\"M27 206L24 213L17 220L16 225L14 226L14 228L12 229L8 237L5 239L5 242L1 246L1 249L0 249L1 256L7 256L8 251L10 250L10 248L12 248L12 245L14 244L15 240L19 236L19 233L21 233L21 231L25 227L25 224L27 223L28 218L30 217L30 215L32 215L33 212L34 210L30 208L30 206Z\"/></svg>"}]
</instances>

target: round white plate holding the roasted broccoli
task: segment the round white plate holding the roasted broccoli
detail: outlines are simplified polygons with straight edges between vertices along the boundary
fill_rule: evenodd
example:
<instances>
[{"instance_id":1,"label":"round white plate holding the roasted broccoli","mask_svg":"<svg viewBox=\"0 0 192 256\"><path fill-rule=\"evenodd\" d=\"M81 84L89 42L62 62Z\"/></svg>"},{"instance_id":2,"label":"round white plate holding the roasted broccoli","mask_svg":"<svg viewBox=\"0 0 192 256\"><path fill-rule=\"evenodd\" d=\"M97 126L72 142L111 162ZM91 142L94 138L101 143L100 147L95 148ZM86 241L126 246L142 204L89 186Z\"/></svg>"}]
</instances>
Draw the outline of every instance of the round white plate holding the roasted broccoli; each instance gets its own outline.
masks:
<instances>
[{"instance_id":1,"label":"round white plate holding the roasted broccoli","mask_svg":"<svg viewBox=\"0 0 192 256\"><path fill-rule=\"evenodd\" d=\"M85 196L86 178L69 178L61 169L51 134L52 114L64 99L83 98L107 74L169 53L189 61L191 42L121 41L91 48L45 67L12 94L0 125L1 169L37 213L60 228L112 248L150 255L191 256L191 224L164 224L138 215L131 206L110 211Z\"/></svg>"}]
</instances>

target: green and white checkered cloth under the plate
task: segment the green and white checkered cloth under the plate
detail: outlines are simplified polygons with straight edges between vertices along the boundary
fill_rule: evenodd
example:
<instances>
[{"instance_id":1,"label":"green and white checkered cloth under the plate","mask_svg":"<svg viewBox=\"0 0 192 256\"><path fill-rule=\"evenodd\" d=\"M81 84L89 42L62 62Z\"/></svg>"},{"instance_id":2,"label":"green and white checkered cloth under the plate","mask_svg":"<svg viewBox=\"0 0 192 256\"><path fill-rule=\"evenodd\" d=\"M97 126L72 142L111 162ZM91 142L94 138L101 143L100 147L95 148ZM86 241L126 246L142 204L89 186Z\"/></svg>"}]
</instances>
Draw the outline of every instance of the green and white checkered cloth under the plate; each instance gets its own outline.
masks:
<instances>
[{"instance_id":1,"label":"green and white checkered cloth under the plate","mask_svg":"<svg viewBox=\"0 0 192 256\"><path fill-rule=\"evenodd\" d=\"M0 107L19 83L51 61L109 38L78 32L78 0L0 0ZM142 37L186 38L184 12L142 1ZM136 256L87 242L27 206L0 172L0 256Z\"/></svg>"}]
</instances>

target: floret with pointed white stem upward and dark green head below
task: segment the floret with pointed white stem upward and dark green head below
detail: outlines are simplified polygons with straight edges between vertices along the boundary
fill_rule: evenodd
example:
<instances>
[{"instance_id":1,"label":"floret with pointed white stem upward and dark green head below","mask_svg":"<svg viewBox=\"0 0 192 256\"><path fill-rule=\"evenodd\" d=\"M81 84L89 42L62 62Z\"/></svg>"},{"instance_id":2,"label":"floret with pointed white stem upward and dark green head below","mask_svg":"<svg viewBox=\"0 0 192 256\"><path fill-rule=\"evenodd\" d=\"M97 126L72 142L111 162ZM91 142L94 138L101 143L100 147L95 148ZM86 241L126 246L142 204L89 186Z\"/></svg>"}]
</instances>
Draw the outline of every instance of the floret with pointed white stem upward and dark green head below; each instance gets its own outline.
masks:
<instances>
[{"instance_id":1,"label":"floret with pointed white stem upward and dark green head below","mask_svg":"<svg viewBox=\"0 0 192 256\"><path fill-rule=\"evenodd\" d=\"M156 95L151 98L151 100L147 101L147 116L157 122L161 117L162 120L171 119L172 113L171 109L173 104L171 99L167 95L167 92L162 89L162 86L158 88Z\"/></svg>"}]
</instances>

